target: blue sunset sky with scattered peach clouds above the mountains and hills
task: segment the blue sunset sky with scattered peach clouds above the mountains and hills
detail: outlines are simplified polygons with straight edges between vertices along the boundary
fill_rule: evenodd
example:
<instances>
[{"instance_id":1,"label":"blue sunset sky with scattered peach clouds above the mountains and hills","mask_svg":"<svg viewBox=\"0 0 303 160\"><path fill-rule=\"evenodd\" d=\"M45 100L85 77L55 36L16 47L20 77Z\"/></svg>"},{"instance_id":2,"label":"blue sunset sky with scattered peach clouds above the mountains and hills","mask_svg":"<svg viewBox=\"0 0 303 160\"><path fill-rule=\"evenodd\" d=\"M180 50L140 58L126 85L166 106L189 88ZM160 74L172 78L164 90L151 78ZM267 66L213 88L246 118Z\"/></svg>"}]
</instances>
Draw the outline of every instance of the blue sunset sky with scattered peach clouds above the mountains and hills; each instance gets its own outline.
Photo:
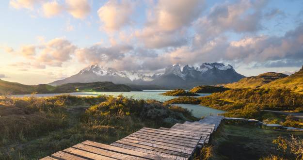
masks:
<instances>
[{"instance_id":1,"label":"blue sunset sky with scattered peach clouds above the mountains and hills","mask_svg":"<svg viewBox=\"0 0 303 160\"><path fill-rule=\"evenodd\" d=\"M302 0L1 0L0 20L0 79L23 84L90 64L220 62L244 76L303 65Z\"/></svg>"}]
</instances>

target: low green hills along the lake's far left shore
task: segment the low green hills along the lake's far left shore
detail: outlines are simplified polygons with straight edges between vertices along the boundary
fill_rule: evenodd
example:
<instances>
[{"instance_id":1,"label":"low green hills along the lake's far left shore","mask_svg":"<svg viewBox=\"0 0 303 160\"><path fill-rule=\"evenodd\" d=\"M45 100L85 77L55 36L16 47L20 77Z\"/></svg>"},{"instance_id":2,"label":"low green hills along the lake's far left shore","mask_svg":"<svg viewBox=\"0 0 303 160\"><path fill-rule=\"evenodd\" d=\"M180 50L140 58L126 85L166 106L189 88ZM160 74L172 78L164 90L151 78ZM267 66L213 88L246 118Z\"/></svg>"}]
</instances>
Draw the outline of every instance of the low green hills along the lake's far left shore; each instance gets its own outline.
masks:
<instances>
[{"instance_id":1,"label":"low green hills along the lake's far left shore","mask_svg":"<svg viewBox=\"0 0 303 160\"><path fill-rule=\"evenodd\" d=\"M59 86L48 84L24 85L16 82L0 80L0 95L70 93L70 92L128 92L132 89L127 85L112 82L67 83Z\"/></svg>"}]
</instances>

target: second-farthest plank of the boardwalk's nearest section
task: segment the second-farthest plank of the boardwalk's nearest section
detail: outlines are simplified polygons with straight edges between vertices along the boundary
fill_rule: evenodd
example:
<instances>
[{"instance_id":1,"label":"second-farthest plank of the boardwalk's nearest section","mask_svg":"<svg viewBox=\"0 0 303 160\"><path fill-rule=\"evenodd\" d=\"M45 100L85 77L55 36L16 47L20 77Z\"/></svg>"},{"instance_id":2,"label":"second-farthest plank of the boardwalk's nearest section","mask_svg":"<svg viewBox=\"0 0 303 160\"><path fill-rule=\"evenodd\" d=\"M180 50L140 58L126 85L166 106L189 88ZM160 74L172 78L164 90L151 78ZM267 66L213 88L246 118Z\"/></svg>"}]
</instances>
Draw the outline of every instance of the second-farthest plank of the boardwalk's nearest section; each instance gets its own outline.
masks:
<instances>
[{"instance_id":1,"label":"second-farthest plank of the boardwalk's nearest section","mask_svg":"<svg viewBox=\"0 0 303 160\"><path fill-rule=\"evenodd\" d=\"M116 153L116 152L112 152L112 151L101 149L101 148L96 148L96 147L93 147L90 145L85 145L85 144L76 144L73 146L73 148L95 153L95 154L102 155L102 156L111 157L114 159L119 159L119 160L147 160L144 158L130 156L127 154L122 154L122 153Z\"/></svg>"}]
</instances>

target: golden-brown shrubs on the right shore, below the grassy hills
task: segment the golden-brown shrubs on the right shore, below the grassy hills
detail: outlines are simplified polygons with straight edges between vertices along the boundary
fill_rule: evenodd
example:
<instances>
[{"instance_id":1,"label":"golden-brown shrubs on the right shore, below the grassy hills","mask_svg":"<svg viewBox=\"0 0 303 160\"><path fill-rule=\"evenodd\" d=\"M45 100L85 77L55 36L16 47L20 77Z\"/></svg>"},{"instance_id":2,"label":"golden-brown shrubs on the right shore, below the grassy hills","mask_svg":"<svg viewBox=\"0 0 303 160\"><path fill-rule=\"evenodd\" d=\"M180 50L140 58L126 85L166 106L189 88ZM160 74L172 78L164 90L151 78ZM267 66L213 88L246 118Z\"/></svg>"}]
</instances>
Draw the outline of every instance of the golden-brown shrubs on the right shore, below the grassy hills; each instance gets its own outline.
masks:
<instances>
[{"instance_id":1,"label":"golden-brown shrubs on the right shore, below the grassy hills","mask_svg":"<svg viewBox=\"0 0 303 160\"><path fill-rule=\"evenodd\" d=\"M298 110L303 108L303 95L289 89L231 89L203 97L178 97L166 104L200 104L227 111L224 116L262 120L262 110Z\"/></svg>"}]
</instances>

